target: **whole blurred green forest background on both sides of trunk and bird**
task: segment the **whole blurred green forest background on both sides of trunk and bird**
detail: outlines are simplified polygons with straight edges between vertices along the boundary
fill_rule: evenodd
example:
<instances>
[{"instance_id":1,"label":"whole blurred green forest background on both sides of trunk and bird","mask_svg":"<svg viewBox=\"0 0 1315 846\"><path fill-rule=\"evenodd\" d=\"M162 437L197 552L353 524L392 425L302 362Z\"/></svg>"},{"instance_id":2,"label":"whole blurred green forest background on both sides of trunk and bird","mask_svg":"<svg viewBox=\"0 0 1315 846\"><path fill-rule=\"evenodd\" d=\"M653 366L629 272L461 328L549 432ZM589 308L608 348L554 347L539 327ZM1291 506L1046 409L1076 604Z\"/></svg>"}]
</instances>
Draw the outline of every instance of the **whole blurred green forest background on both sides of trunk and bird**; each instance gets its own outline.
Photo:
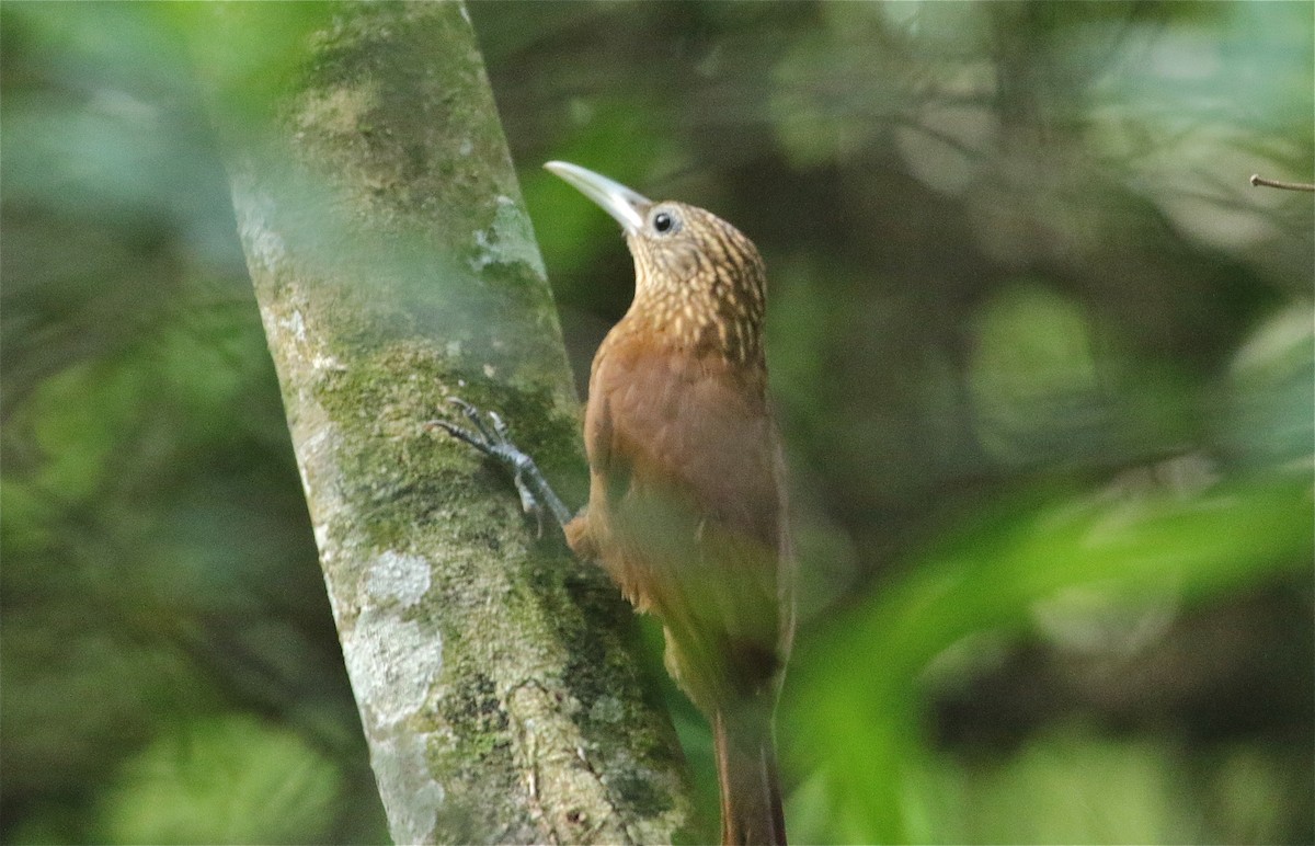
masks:
<instances>
[{"instance_id":1,"label":"whole blurred green forest background on both sides of trunk and bird","mask_svg":"<svg viewBox=\"0 0 1315 846\"><path fill-rule=\"evenodd\" d=\"M1315 837L1310 4L469 13L581 379L543 161L768 261L796 839ZM385 838L217 151L326 20L0 8L5 842Z\"/></svg>"}]
</instances>

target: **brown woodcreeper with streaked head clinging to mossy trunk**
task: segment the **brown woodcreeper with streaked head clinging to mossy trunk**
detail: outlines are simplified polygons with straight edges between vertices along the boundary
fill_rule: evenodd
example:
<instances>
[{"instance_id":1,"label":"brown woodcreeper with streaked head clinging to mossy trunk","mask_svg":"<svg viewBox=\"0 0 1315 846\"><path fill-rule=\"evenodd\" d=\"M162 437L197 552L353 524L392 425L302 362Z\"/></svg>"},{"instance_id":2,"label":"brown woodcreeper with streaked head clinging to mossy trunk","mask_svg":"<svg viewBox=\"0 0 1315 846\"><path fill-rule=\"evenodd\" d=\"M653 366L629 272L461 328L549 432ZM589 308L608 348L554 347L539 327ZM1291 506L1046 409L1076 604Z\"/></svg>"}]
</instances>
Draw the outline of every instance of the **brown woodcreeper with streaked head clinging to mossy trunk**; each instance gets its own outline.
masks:
<instances>
[{"instance_id":1,"label":"brown woodcreeper with streaked head clinging to mossy trunk","mask_svg":"<svg viewBox=\"0 0 1315 846\"><path fill-rule=\"evenodd\" d=\"M505 463L665 635L664 663L711 726L722 842L785 843L773 722L794 632L785 462L769 407L767 272L702 208L652 201L568 162L544 167L608 212L634 258L629 311L589 374L588 504L572 514L496 413L435 421Z\"/></svg>"}]
</instances>

